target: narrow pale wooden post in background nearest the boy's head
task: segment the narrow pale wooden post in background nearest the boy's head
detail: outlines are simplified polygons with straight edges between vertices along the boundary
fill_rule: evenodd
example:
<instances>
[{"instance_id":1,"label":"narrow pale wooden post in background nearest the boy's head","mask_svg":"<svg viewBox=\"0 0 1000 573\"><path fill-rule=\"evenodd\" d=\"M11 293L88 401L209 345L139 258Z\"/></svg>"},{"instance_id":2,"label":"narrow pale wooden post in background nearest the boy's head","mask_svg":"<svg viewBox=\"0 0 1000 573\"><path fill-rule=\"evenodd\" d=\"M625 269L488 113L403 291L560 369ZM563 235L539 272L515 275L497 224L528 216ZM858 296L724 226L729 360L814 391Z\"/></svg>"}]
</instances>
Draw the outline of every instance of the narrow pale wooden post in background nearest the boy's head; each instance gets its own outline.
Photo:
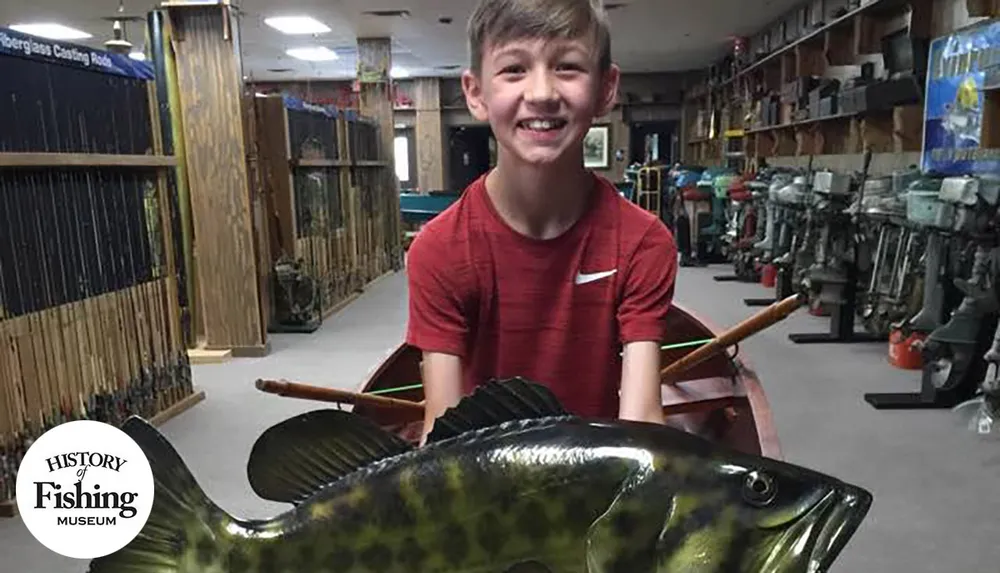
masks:
<instances>
[{"instance_id":1,"label":"narrow pale wooden post in background nearest the boy's head","mask_svg":"<svg viewBox=\"0 0 1000 573\"><path fill-rule=\"evenodd\" d=\"M441 133L441 90L438 78L414 81L417 182L424 191L444 189Z\"/></svg>"}]
</instances>

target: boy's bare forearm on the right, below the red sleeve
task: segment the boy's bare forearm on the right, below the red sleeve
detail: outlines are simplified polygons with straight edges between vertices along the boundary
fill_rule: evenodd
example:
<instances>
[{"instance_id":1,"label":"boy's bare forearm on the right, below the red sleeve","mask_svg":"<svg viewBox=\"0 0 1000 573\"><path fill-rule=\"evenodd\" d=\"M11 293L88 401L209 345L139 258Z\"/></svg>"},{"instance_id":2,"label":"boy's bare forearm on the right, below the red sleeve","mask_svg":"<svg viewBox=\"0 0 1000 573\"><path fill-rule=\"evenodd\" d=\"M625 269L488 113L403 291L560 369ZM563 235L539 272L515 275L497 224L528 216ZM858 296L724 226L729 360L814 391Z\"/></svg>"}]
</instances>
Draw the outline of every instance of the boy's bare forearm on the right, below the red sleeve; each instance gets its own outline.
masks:
<instances>
[{"instance_id":1,"label":"boy's bare forearm on the right, below the red sleeve","mask_svg":"<svg viewBox=\"0 0 1000 573\"><path fill-rule=\"evenodd\" d=\"M660 343L630 342L622 355L619 418L663 424Z\"/></svg>"}]
</instances>

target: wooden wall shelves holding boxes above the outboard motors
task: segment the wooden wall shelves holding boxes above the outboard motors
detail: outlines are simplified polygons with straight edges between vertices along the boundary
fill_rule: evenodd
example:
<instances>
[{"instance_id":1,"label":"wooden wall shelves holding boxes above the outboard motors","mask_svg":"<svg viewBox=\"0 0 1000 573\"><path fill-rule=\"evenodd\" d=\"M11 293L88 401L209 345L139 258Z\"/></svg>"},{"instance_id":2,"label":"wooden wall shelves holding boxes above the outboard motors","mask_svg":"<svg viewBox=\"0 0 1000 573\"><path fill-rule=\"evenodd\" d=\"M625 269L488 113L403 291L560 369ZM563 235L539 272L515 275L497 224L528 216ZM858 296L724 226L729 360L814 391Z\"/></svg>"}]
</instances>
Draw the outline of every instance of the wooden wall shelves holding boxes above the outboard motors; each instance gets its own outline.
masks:
<instances>
[{"instance_id":1,"label":"wooden wall shelves holding boxes above the outboard motors","mask_svg":"<svg viewBox=\"0 0 1000 573\"><path fill-rule=\"evenodd\" d=\"M859 105L846 86L857 81L865 64L873 70L869 81L880 79L874 70L881 66L884 36L908 30L912 38L929 39L933 0L842 4L839 12L831 6L820 16L815 5L802 7L783 27L751 42L751 51L760 54L756 61L740 67L729 59L689 90L686 161L723 164L727 154L720 134L726 130L744 130L750 163L853 154L866 147L874 153L920 150L922 83L917 99L886 106L872 106L870 97ZM830 80L836 83L816 89Z\"/></svg>"}]
</instances>

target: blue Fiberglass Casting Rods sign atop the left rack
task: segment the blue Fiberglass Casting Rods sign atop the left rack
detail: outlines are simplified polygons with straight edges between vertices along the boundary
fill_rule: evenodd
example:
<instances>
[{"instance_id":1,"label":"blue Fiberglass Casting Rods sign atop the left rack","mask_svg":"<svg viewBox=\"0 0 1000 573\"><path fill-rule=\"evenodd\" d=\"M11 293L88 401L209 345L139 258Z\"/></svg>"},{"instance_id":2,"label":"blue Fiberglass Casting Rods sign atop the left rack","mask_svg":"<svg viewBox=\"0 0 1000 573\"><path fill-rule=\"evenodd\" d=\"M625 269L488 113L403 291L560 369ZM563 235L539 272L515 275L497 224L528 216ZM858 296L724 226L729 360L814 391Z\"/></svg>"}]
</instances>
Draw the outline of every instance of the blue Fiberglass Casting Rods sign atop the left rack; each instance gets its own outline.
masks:
<instances>
[{"instance_id":1,"label":"blue Fiberglass Casting Rods sign atop the left rack","mask_svg":"<svg viewBox=\"0 0 1000 573\"><path fill-rule=\"evenodd\" d=\"M9 28L0 28L0 55L20 56L140 80L155 78L153 66L148 62L133 60L114 52L22 34Z\"/></svg>"}]
</instances>

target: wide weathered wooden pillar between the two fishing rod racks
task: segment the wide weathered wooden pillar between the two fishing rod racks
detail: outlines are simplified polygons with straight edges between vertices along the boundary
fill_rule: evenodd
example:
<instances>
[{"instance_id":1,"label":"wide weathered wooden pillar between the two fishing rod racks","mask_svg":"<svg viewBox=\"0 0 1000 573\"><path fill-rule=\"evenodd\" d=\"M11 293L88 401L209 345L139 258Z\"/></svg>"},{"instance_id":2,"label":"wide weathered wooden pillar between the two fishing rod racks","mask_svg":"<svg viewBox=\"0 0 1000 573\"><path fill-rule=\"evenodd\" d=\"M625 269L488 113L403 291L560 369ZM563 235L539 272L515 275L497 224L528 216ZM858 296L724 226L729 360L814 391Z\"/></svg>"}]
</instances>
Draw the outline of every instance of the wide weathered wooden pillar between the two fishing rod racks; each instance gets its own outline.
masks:
<instances>
[{"instance_id":1,"label":"wide weathered wooden pillar between the two fishing rod racks","mask_svg":"<svg viewBox=\"0 0 1000 573\"><path fill-rule=\"evenodd\" d=\"M204 346L260 351L264 333L255 261L242 79L220 6L172 7L177 81L191 194ZM244 349L244 350L240 350Z\"/></svg>"}]
</instances>

